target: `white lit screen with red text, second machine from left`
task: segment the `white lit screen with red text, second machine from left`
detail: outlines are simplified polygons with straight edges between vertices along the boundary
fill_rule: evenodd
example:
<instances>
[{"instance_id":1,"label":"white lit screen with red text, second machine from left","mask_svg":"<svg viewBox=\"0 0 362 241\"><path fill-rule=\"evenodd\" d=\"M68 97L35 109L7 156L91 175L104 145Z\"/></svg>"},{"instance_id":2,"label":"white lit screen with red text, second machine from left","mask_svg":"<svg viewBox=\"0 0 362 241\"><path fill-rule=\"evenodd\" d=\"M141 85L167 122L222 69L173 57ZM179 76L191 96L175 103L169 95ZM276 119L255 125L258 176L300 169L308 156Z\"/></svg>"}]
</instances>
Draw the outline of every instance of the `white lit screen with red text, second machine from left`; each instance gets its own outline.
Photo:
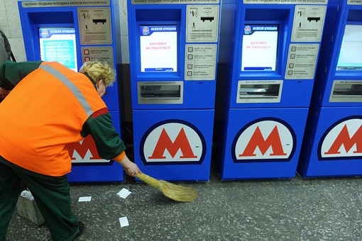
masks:
<instances>
[{"instance_id":1,"label":"white lit screen with red text, second machine from left","mask_svg":"<svg viewBox=\"0 0 362 241\"><path fill-rule=\"evenodd\" d=\"M177 72L177 26L140 26L141 72Z\"/></svg>"}]
</instances>

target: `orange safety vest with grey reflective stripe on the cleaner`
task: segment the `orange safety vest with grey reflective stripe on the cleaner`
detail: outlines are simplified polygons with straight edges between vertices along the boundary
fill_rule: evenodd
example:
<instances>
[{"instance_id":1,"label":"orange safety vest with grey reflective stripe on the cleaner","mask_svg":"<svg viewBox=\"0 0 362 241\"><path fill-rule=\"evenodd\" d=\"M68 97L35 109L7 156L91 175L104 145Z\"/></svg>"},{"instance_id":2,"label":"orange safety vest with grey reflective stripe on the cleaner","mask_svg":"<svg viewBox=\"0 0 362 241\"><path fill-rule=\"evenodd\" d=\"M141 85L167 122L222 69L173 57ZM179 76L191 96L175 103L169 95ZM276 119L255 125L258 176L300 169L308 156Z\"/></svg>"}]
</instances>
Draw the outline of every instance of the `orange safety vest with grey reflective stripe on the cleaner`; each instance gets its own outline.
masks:
<instances>
[{"instance_id":1,"label":"orange safety vest with grey reflective stripe on the cleaner","mask_svg":"<svg viewBox=\"0 0 362 241\"><path fill-rule=\"evenodd\" d=\"M0 103L0 155L32 172L70 172L65 145L82 140L92 113L106 108L92 82L57 62L42 62Z\"/></svg>"}]
</instances>

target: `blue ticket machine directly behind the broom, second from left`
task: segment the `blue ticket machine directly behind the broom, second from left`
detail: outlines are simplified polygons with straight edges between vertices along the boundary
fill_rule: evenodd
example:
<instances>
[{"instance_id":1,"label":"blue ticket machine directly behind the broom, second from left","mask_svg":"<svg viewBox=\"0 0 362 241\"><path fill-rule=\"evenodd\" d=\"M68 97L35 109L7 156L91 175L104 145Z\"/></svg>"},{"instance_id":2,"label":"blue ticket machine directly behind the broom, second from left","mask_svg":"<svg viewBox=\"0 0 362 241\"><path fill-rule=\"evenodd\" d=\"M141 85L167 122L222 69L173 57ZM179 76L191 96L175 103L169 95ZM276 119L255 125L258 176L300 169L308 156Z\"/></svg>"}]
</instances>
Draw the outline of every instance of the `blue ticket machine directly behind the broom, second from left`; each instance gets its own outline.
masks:
<instances>
[{"instance_id":1,"label":"blue ticket machine directly behind the broom, second from left","mask_svg":"<svg viewBox=\"0 0 362 241\"><path fill-rule=\"evenodd\" d=\"M128 1L134 159L168 181L207 181L219 0Z\"/></svg>"}]
</instances>

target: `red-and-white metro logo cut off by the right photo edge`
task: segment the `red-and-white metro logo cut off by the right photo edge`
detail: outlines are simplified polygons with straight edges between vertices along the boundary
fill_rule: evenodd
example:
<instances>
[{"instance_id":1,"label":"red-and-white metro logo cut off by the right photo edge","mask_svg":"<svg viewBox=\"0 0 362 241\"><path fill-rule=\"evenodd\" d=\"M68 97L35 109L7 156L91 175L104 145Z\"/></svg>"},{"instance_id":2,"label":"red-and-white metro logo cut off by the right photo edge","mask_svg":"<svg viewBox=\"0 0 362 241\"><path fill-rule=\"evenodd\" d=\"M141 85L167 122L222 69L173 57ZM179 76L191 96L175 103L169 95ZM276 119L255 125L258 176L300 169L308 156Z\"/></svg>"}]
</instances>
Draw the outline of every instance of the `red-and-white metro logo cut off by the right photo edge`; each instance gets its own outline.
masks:
<instances>
[{"instance_id":1,"label":"red-and-white metro logo cut off by the right photo edge","mask_svg":"<svg viewBox=\"0 0 362 241\"><path fill-rule=\"evenodd\" d=\"M345 118L324 133L318 147L320 160L360 159L362 157L362 119Z\"/></svg>"}]
</instances>

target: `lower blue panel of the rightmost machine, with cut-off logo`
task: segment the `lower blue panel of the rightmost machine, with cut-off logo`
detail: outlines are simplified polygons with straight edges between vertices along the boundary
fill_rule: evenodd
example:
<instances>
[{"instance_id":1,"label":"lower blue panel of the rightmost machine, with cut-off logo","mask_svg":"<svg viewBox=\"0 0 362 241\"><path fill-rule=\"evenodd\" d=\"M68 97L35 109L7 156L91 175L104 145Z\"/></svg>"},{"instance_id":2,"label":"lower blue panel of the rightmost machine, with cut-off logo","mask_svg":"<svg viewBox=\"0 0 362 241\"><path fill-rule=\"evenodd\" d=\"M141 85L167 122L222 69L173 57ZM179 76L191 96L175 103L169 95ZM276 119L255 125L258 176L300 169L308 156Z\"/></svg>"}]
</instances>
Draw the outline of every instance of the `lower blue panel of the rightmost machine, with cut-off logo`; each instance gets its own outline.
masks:
<instances>
[{"instance_id":1,"label":"lower blue panel of the rightmost machine, with cut-off logo","mask_svg":"<svg viewBox=\"0 0 362 241\"><path fill-rule=\"evenodd\" d=\"M304 143L308 149L298 173L302 177L361 176L362 107L315 107L315 128Z\"/></svg>"}]
</instances>

